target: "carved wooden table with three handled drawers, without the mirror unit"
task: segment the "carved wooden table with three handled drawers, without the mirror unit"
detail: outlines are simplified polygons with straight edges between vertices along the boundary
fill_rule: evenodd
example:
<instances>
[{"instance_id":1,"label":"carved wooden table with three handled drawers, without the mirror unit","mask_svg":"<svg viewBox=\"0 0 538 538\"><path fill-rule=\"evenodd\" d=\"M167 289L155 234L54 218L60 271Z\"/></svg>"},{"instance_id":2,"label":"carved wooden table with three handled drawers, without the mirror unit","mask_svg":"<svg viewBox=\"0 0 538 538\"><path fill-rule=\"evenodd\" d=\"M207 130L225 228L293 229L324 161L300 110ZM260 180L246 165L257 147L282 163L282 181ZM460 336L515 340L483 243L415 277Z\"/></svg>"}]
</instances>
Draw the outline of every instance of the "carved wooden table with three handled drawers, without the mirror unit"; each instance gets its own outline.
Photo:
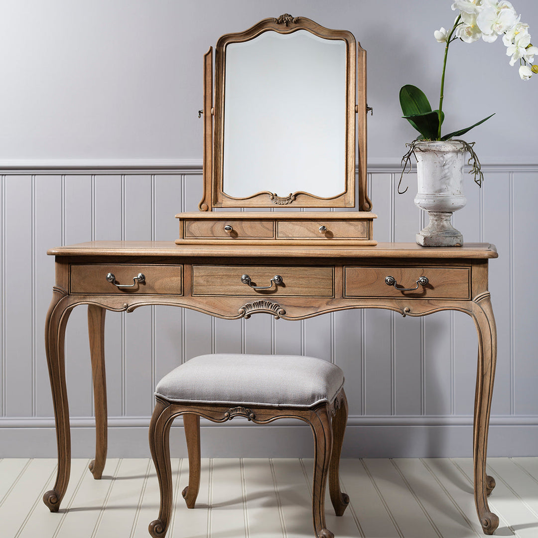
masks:
<instances>
[{"instance_id":1,"label":"carved wooden table with three handled drawers, without the mirror unit","mask_svg":"<svg viewBox=\"0 0 538 538\"><path fill-rule=\"evenodd\" d=\"M301 320L353 308L385 308L403 316L459 310L471 316L478 332L473 434L475 501L484 532L491 534L497 528L497 515L487 504L487 495L495 483L485 470L497 351L487 289L488 261L497 257L493 245L291 247L226 242L222 246L186 246L173 242L104 241L62 246L48 254L56 260L56 282L45 328L58 440L58 475L53 490L44 495L51 511L58 511L69 480L70 430L63 348L67 320L77 305L88 305L96 417L96 455L90 469L95 478L101 477L107 454L106 310L132 312L145 305L173 305L229 320L259 313ZM249 275L249 279L242 279L243 275ZM395 282L389 279L387 284L387 277L393 277ZM421 284L421 277L428 282ZM402 287L416 289L398 289Z\"/></svg>"}]
</instances>

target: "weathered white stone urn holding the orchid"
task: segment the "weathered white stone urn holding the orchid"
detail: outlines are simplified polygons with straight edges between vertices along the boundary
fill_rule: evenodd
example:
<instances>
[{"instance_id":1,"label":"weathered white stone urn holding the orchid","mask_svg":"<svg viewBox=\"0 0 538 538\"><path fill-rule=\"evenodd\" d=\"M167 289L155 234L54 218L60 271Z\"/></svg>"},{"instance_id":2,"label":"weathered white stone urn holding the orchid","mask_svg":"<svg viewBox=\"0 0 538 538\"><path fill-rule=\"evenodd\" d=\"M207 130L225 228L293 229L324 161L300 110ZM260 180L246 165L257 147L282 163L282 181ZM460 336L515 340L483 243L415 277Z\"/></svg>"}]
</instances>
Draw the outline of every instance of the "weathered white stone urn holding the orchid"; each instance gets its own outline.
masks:
<instances>
[{"instance_id":1,"label":"weathered white stone urn holding the orchid","mask_svg":"<svg viewBox=\"0 0 538 538\"><path fill-rule=\"evenodd\" d=\"M418 192L415 206L428 211L429 224L416 235L423 246L461 246L463 236L450 223L454 211L467 203L463 195L465 145L455 140L414 144Z\"/></svg>"}]
</instances>

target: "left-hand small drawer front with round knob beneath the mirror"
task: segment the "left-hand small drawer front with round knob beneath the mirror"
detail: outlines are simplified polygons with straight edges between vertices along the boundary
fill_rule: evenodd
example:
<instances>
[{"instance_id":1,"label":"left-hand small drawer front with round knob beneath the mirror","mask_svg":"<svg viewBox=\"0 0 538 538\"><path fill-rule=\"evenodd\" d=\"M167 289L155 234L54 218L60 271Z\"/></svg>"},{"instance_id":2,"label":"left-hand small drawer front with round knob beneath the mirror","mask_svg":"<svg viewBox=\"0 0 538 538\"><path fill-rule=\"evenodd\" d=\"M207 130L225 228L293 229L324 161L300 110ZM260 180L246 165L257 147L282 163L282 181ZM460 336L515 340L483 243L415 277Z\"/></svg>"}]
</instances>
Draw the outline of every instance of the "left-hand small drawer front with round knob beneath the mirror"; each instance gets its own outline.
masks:
<instances>
[{"instance_id":1,"label":"left-hand small drawer front with round knob beneath the mirror","mask_svg":"<svg viewBox=\"0 0 538 538\"><path fill-rule=\"evenodd\" d=\"M231 226L231 230L225 230ZM186 220L184 237L207 239L255 239L273 238L273 221L225 221L225 220Z\"/></svg>"}]
</instances>

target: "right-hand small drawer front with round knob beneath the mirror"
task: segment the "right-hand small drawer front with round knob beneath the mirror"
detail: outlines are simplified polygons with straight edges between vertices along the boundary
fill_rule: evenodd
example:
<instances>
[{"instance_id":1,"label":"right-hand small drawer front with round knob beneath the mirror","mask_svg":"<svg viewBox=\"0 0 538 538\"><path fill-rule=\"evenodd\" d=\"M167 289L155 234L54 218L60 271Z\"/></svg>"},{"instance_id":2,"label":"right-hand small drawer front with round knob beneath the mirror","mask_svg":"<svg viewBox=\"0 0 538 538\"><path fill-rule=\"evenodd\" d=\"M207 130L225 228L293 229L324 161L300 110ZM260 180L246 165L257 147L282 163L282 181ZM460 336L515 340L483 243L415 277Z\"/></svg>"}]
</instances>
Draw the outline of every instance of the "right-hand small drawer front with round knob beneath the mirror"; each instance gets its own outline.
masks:
<instances>
[{"instance_id":1,"label":"right-hand small drawer front with round knob beneath the mirror","mask_svg":"<svg viewBox=\"0 0 538 538\"><path fill-rule=\"evenodd\" d=\"M322 226L325 226L326 230ZM365 221L279 221L277 237L279 239L367 239L368 226Z\"/></svg>"}]
</instances>

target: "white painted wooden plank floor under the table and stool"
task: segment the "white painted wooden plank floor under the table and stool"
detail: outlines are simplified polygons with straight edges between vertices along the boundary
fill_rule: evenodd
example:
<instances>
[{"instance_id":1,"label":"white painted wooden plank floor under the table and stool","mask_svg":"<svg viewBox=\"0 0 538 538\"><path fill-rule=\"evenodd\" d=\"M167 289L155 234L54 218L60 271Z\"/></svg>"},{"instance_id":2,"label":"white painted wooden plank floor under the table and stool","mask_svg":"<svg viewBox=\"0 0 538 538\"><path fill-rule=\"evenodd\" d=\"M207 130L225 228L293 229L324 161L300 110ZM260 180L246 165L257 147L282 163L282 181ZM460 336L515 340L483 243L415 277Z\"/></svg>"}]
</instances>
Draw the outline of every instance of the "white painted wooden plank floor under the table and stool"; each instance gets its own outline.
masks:
<instances>
[{"instance_id":1,"label":"white painted wooden plank floor under the table and stool","mask_svg":"<svg viewBox=\"0 0 538 538\"><path fill-rule=\"evenodd\" d=\"M53 459L0 460L2 538L147 538L159 490L151 460L110 459L94 480L74 459L59 513L41 501L54 482ZM170 538L312 538L310 459L204 459L197 507L181 490L188 462L173 459L175 511ZM538 458L490 458L497 481L490 507L495 535L538 536ZM327 526L337 538L483 536L472 497L470 459L342 459L351 504Z\"/></svg>"}]
</instances>

